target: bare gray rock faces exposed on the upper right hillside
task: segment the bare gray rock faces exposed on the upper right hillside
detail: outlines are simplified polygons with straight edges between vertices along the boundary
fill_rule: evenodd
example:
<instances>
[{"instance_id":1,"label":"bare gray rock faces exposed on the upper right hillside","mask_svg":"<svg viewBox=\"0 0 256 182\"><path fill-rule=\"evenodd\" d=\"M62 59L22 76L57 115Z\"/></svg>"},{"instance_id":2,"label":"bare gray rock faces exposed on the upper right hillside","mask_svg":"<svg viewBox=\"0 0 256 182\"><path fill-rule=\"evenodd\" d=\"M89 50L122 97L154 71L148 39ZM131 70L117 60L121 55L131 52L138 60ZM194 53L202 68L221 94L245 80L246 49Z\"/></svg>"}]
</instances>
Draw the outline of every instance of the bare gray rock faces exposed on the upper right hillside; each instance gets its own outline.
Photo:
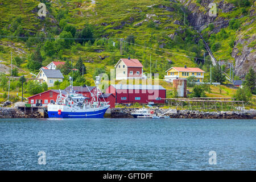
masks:
<instances>
[{"instance_id":1,"label":"bare gray rock faces exposed on the upper right hillside","mask_svg":"<svg viewBox=\"0 0 256 182\"><path fill-rule=\"evenodd\" d=\"M216 34L221 30L221 28L225 28L229 26L229 21L223 17L215 17L209 16L209 4L214 2L213 0L201 0L200 5L203 6L205 11L200 10L200 6L197 6L195 3L191 3L191 0L179 0L180 3L183 3L189 10L188 21L191 26L195 26L197 30L203 30L207 27L207 24L214 22L221 22L214 24L213 32ZM254 6L254 5L252 5ZM221 9L223 13L228 13L233 11L236 8L232 3L225 3L224 1L217 3L217 9ZM250 11L250 15L252 15L254 11ZM216 19L217 18L217 19ZM251 20L249 24L254 23L254 20ZM248 24L248 23L247 23ZM245 25L247 25L245 24ZM237 34L240 34L239 30ZM238 39L234 43L234 48L232 51L232 57L236 60L235 66L235 74L241 78L244 78L246 73L249 71L250 67L253 67L256 70L256 53L255 46L249 47L248 45L255 40L255 36L251 36L250 38L243 38L244 35L238 36ZM242 48L238 48L239 46Z\"/></svg>"}]
</instances>

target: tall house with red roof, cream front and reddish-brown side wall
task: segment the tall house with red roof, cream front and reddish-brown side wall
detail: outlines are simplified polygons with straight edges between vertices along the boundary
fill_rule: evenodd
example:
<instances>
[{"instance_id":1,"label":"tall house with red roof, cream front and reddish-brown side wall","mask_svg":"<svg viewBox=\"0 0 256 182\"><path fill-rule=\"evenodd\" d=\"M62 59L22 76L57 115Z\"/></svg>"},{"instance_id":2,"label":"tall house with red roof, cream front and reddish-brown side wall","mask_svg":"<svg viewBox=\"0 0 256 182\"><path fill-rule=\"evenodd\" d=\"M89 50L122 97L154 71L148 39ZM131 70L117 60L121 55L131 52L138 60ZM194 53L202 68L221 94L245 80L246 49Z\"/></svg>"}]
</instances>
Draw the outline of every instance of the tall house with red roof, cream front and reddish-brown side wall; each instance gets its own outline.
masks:
<instances>
[{"instance_id":1,"label":"tall house with red roof, cream front and reddish-brown side wall","mask_svg":"<svg viewBox=\"0 0 256 182\"><path fill-rule=\"evenodd\" d=\"M115 79L127 80L129 78L145 78L143 65L138 59L122 58L115 65Z\"/></svg>"}]
</instances>

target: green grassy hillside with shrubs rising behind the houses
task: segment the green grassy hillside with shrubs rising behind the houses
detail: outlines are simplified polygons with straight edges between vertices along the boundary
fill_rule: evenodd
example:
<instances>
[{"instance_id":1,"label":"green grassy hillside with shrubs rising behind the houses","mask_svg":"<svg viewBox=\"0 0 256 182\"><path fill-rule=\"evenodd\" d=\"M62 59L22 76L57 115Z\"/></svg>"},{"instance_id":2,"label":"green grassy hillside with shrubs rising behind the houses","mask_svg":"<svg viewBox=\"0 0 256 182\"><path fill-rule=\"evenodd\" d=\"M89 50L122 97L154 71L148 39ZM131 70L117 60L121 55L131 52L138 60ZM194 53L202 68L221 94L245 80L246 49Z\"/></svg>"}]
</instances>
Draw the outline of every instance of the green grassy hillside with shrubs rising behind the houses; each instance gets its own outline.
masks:
<instances>
[{"instance_id":1,"label":"green grassy hillside with shrubs rising behind the houses","mask_svg":"<svg viewBox=\"0 0 256 182\"><path fill-rule=\"evenodd\" d=\"M46 4L46 17L38 15L40 2ZM255 52L255 2L214 2L229 3L234 8L226 13L218 9L213 23L206 23L199 32L217 60L236 64L232 56L234 42L245 40L236 44L240 54L244 46ZM198 15L207 14L208 3L204 0L2 1L0 72L3 67L10 69L11 52L16 76L26 78L33 77L40 67L53 60L69 61L69 64L72 61L76 67L81 57L86 74L83 78L75 74L74 84L89 85L98 73L109 75L121 57L139 59L143 71L149 73L151 56L152 73L159 73L160 78L170 67L187 65L202 68L206 72L205 81L209 81L210 57L198 28L189 19L195 13L193 9L200 11ZM191 10L192 4L196 6ZM218 22L223 20L228 20L228 25L220 28L222 23ZM229 73L229 68L224 69ZM70 71L64 73L65 81L60 88L68 84L68 74ZM1 89L6 91L5 87ZM11 92L20 92L18 81L11 85ZM25 93L31 95L27 87Z\"/></svg>"}]
</instances>

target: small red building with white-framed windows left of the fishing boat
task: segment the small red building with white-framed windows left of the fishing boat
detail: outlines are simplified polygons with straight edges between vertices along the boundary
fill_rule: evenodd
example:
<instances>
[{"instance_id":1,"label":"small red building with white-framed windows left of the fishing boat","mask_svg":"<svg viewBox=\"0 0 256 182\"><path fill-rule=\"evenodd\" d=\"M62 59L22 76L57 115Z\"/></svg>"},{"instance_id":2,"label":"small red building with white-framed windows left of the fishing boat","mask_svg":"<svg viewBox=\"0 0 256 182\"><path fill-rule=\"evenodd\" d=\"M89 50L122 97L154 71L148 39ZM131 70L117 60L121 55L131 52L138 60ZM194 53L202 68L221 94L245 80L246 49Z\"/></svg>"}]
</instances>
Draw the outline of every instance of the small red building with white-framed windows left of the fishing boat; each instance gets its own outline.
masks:
<instances>
[{"instance_id":1,"label":"small red building with white-framed windows left of the fishing boat","mask_svg":"<svg viewBox=\"0 0 256 182\"><path fill-rule=\"evenodd\" d=\"M47 106L49 103L56 102L57 96L59 94L59 90L47 90L46 92L28 97L28 104L32 104L32 106ZM61 90L61 94L65 96L67 92L65 92L65 90Z\"/></svg>"}]
</instances>

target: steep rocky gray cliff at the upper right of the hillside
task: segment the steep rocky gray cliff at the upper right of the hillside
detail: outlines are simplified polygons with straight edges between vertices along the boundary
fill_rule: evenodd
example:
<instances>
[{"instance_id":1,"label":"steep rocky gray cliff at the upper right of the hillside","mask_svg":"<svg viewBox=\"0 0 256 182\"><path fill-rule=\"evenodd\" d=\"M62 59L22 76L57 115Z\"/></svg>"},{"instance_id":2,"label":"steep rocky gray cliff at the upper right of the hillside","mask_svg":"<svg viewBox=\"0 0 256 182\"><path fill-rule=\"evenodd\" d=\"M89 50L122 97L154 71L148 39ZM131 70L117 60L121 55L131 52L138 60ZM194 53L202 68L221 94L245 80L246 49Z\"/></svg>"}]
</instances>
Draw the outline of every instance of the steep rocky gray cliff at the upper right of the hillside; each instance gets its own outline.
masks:
<instances>
[{"instance_id":1,"label":"steep rocky gray cliff at the upper right of the hillside","mask_svg":"<svg viewBox=\"0 0 256 182\"><path fill-rule=\"evenodd\" d=\"M232 11L236 10L236 6L233 3L226 3L225 1L214 1L214 0L179 0L188 9L188 21L191 26L194 26L197 30L202 31L207 27L207 24L213 23L214 28L212 33L217 33L221 28L229 26L230 18L224 16L225 14L231 14ZM217 16L209 15L209 4L216 3L218 13ZM219 14L221 13L221 15ZM241 18L245 15L238 15L236 18ZM232 50L232 57L235 62L235 75L244 78L250 67L256 70L256 53L255 53L255 34L248 35L247 32L255 28L255 18L249 20L249 17L255 16L255 2L249 9L249 14L246 15L248 19L246 22L241 24L241 27L236 31L236 40ZM220 23L217 23L220 22ZM244 27L247 27L244 28Z\"/></svg>"}]
</instances>

